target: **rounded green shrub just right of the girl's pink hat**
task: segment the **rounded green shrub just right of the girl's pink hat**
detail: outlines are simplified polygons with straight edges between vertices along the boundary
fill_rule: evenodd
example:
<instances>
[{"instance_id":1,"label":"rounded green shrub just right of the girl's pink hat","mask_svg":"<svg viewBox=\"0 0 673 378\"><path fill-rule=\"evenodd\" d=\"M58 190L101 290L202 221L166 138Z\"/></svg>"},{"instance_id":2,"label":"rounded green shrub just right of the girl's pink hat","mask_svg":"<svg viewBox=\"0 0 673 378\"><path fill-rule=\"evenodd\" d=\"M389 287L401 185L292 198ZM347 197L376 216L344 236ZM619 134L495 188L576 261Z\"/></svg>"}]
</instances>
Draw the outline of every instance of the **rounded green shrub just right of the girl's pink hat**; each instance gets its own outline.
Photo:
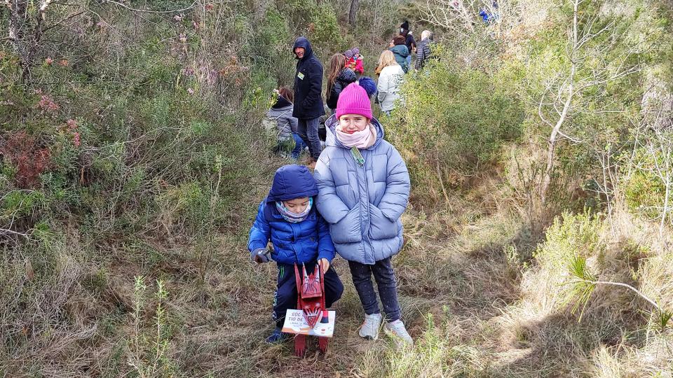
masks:
<instances>
[{"instance_id":1,"label":"rounded green shrub just right of the girl's pink hat","mask_svg":"<svg viewBox=\"0 0 673 378\"><path fill-rule=\"evenodd\" d=\"M430 192L451 170L474 173L519 137L522 104L510 93L510 76L463 67L447 52L405 77L403 99L383 125L406 158L417 192Z\"/></svg>"}]
</instances>

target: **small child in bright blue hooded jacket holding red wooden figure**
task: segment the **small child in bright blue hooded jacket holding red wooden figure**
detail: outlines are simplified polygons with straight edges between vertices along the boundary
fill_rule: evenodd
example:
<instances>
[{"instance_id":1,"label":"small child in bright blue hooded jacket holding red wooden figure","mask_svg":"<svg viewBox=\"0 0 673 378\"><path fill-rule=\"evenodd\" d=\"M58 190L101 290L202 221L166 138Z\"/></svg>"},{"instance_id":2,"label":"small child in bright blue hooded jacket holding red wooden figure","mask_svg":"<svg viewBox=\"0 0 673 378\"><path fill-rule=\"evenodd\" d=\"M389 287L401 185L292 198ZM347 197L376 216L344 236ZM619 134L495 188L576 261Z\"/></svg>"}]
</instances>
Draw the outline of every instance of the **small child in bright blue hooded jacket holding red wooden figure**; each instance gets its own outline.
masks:
<instances>
[{"instance_id":1,"label":"small child in bright blue hooded jacket holding red wooden figure","mask_svg":"<svg viewBox=\"0 0 673 378\"><path fill-rule=\"evenodd\" d=\"M278 286L273 300L273 319L276 329L266 342L287 339L280 330L285 311L297 307L297 286L294 263L305 264L313 272L320 260L325 279L325 305L332 306L344 292L337 272L330 267L334 258L334 244L329 237L329 226L315 209L313 199L318 195L315 180L308 168L285 165L276 171L268 196L259 204L257 218L250 229L247 248L254 262L276 261ZM267 249L271 241L273 249ZM269 256L270 255L270 256Z\"/></svg>"}]
</instances>

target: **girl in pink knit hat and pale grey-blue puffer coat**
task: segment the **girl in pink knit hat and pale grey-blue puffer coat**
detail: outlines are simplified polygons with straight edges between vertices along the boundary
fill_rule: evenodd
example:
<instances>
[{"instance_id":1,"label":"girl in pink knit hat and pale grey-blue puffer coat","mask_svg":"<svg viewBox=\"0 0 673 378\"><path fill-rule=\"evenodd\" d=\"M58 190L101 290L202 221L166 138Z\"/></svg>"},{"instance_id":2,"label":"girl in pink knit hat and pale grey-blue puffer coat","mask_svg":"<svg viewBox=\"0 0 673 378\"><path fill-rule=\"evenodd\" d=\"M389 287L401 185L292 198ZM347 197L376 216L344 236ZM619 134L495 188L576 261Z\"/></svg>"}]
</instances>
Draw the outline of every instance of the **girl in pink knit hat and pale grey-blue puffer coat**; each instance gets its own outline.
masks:
<instances>
[{"instance_id":1,"label":"girl in pink knit hat and pale grey-blue puffer coat","mask_svg":"<svg viewBox=\"0 0 673 378\"><path fill-rule=\"evenodd\" d=\"M348 260L365 311L358 333L367 339L379 337L383 316L372 285L374 274L386 312L383 330L396 341L413 344L401 319L390 260L402 248L400 217L410 187L407 166L383 139L383 127L373 118L367 92L358 83L341 92L326 126L333 137L315 166L316 205L329 223L337 253Z\"/></svg>"}]
</instances>

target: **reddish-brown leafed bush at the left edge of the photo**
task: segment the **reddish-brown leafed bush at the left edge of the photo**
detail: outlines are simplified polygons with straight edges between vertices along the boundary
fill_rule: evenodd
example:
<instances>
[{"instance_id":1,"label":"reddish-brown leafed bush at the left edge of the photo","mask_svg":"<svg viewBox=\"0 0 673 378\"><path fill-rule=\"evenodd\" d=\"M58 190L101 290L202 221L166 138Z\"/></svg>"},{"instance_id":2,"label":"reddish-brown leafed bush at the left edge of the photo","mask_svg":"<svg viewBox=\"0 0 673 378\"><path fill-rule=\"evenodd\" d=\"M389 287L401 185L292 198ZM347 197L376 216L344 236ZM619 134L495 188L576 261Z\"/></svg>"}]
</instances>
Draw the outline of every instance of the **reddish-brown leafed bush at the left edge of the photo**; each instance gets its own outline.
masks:
<instances>
[{"instance_id":1,"label":"reddish-brown leafed bush at the left edge of the photo","mask_svg":"<svg viewBox=\"0 0 673 378\"><path fill-rule=\"evenodd\" d=\"M0 155L17 169L15 180L19 188L34 188L39 176L51 164L48 148L41 148L35 137L26 132L15 132L0 139Z\"/></svg>"}]
</instances>

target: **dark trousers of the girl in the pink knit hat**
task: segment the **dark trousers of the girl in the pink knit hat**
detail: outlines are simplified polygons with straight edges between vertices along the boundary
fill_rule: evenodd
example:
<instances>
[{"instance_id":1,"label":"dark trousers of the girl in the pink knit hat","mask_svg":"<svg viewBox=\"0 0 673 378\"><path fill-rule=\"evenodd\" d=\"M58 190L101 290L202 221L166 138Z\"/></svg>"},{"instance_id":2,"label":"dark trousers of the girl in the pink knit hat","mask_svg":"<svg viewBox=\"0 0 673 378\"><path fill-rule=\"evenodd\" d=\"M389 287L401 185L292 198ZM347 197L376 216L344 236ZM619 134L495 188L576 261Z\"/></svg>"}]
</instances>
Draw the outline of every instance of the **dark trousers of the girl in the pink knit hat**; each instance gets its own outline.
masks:
<instances>
[{"instance_id":1,"label":"dark trousers of the girl in the pink knit hat","mask_svg":"<svg viewBox=\"0 0 673 378\"><path fill-rule=\"evenodd\" d=\"M395 271L393 262L390 258L376 261L374 265L361 264L360 262L348 261L348 267L351 268L353 276L353 285L358 291L362 308L365 314L379 314L379 301L376 300L374 285L372 284L372 274L376 279L376 286L379 286L379 296L383 304L383 311L386 311L387 321L396 321L402 317L400 304L397 302L397 282L395 281Z\"/></svg>"}]
</instances>

